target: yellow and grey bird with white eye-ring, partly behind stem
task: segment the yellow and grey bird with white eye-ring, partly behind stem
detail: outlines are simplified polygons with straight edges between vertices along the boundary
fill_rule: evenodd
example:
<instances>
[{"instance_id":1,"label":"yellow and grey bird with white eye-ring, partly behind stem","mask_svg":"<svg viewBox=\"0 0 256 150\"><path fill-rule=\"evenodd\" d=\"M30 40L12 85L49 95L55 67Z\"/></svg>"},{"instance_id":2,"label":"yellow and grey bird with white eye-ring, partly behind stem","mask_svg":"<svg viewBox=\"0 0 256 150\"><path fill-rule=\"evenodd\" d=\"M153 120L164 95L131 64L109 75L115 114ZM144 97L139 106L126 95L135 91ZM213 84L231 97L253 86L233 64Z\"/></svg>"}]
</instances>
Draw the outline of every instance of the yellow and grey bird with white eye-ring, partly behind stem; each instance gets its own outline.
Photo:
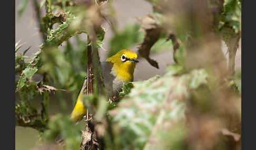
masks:
<instances>
[{"instance_id":1,"label":"yellow and grey bird with white eye-ring, partly behind stem","mask_svg":"<svg viewBox=\"0 0 256 150\"><path fill-rule=\"evenodd\" d=\"M124 49L101 63L104 85L110 98L118 96L118 93L122 91L123 83L133 81L133 72L137 62L139 60L137 60L136 52ZM86 114L86 108L82 102L82 96L85 93L86 80L71 113L71 119L77 123Z\"/></svg>"}]
</instances>

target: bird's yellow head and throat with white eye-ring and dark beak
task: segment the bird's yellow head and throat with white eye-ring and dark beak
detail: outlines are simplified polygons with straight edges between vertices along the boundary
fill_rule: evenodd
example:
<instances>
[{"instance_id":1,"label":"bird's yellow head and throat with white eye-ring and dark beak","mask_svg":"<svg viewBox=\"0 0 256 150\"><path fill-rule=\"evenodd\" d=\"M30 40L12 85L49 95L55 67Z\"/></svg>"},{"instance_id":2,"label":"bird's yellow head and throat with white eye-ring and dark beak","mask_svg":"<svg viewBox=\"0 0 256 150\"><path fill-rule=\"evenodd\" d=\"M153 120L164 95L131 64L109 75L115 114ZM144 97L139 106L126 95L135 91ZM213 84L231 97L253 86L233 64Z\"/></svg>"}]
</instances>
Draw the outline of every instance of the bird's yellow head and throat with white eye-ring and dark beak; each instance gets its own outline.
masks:
<instances>
[{"instance_id":1,"label":"bird's yellow head and throat with white eye-ring and dark beak","mask_svg":"<svg viewBox=\"0 0 256 150\"><path fill-rule=\"evenodd\" d=\"M128 49L120 50L106 61L113 63L112 70L114 70L117 77L125 81L133 78L134 68L136 63L139 62L136 52Z\"/></svg>"}]
</instances>

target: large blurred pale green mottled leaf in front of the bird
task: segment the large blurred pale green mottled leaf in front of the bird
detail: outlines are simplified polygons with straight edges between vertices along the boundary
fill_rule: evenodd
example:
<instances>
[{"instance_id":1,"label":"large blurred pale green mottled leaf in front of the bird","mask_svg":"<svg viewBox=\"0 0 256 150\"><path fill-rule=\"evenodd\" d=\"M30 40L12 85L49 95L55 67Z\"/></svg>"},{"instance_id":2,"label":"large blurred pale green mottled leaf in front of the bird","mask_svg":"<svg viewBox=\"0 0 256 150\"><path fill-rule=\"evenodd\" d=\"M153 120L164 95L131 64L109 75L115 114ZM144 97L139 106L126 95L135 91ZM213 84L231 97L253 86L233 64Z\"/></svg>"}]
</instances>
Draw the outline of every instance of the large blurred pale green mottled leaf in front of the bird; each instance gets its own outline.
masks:
<instances>
[{"instance_id":1,"label":"large blurred pale green mottled leaf in front of the bird","mask_svg":"<svg viewBox=\"0 0 256 150\"><path fill-rule=\"evenodd\" d=\"M170 65L161 77L133 82L131 92L117 108L109 111L116 129L114 134L119 137L115 141L119 143L118 147L185 149L185 141L189 137L185 111L193 95L191 91L204 87L209 93L208 79L205 69L185 73L181 65ZM210 111L207 106L210 99L203 102L202 98L195 103L206 106L204 109Z\"/></svg>"}]
</instances>

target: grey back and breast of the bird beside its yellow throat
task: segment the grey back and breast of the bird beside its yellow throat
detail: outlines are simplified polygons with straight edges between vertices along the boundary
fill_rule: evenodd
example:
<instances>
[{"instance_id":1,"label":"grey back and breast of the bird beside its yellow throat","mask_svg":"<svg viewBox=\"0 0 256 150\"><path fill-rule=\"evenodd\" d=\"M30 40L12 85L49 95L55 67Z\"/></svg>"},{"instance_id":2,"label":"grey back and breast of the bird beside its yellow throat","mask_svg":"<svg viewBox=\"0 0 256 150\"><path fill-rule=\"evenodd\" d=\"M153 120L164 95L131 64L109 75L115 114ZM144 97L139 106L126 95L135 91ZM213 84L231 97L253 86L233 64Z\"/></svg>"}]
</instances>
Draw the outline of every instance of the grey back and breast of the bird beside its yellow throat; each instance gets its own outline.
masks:
<instances>
[{"instance_id":1,"label":"grey back and breast of the bird beside its yellow throat","mask_svg":"<svg viewBox=\"0 0 256 150\"><path fill-rule=\"evenodd\" d=\"M109 97L118 96L122 91L123 82L116 78L115 73L112 71L113 64L111 62L101 62L102 76L104 84Z\"/></svg>"}]
</instances>

